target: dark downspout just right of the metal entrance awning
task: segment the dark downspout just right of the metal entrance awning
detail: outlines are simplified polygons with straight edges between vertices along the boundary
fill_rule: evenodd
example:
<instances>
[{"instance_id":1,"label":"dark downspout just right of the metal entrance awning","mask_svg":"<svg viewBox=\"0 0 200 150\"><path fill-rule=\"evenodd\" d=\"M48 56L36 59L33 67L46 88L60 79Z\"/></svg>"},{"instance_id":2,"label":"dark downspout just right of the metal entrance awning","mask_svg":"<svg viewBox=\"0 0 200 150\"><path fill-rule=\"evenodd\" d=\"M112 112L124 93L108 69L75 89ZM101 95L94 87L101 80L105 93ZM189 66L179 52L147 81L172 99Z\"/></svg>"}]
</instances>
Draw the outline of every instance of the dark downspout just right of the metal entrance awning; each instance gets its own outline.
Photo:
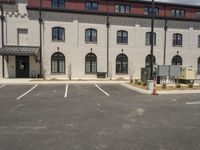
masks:
<instances>
[{"instance_id":1,"label":"dark downspout just right of the metal entrance awning","mask_svg":"<svg viewBox=\"0 0 200 150\"><path fill-rule=\"evenodd\" d=\"M39 8L39 25L40 25L40 77L43 77L43 71L42 71L42 0L40 0L40 8Z\"/></svg>"}]
</instances>

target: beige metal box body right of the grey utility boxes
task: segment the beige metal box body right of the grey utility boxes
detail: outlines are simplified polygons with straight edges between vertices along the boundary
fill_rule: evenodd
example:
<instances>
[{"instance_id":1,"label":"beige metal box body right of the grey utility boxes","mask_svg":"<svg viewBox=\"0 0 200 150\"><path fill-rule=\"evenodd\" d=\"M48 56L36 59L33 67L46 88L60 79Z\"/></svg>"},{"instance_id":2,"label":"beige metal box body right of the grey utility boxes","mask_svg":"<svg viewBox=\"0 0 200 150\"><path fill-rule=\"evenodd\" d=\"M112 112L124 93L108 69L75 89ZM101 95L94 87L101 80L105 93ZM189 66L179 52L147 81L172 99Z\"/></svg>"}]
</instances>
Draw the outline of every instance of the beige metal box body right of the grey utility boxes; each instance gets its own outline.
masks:
<instances>
[{"instance_id":1,"label":"beige metal box body right of the grey utility boxes","mask_svg":"<svg viewBox=\"0 0 200 150\"><path fill-rule=\"evenodd\" d=\"M182 80L194 80L196 79L196 70L193 67L181 67L181 76Z\"/></svg>"}]
</instances>

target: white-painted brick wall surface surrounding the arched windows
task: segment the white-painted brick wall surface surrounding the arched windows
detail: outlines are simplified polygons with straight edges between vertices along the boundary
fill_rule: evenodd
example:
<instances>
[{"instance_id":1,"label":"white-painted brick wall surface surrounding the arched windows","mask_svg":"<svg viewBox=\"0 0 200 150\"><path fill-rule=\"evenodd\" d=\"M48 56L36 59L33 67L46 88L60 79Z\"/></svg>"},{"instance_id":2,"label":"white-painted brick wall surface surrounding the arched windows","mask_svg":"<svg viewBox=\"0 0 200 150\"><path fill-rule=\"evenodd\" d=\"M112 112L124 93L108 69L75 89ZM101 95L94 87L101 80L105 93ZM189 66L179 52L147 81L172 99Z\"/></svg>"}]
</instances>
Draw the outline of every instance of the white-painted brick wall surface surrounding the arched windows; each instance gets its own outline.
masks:
<instances>
[{"instance_id":1,"label":"white-painted brick wall surface surrounding the arched windows","mask_svg":"<svg viewBox=\"0 0 200 150\"><path fill-rule=\"evenodd\" d=\"M25 7L25 5L24 5ZM18 7L24 11L22 4ZM17 44L17 28L28 29L28 44L30 46L39 46L39 23L38 13L34 11L28 12L28 18L6 16L5 23L5 42L8 45ZM49 78L68 78L69 64L72 66L72 78L96 78L95 75L85 74L85 56L91 51L97 56L97 64L99 72L107 71L107 39L106 39L106 17L43 12L43 66L46 75ZM140 78L140 68L145 66L145 58L150 53L150 46L145 46L146 32L150 31L150 20L126 17L110 18L110 37L109 37L109 69L113 78L120 76L128 78L129 75L116 75L116 57L122 53L129 58L129 73L134 70L134 77ZM156 46L154 47L154 55L157 64L163 64L164 51L164 21L156 20L155 32L157 34ZM52 41L52 27L60 26L65 28L65 42ZM1 27L0 27L1 28ZM85 29L95 28L98 31L97 44L85 43ZM198 30L197 30L198 28ZM116 33L118 30L128 31L128 44L117 44ZM172 35L181 33L183 35L183 46L172 46ZM169 21L169 29L167 31L167 53L166 64L171 64L172 57L177 54L183 59L183 66L197 67L197 59L200 56L200 48L197 48L197 39L200 34L200 23L198 22L181 22ZM1 37L0 37L1 38ZM59 47L59 49L58 49ZM51 74L51 56L55 52L62 52L66 59L66 74ZM15 71L12 70L14 58L9 61L6 67L8 77L15 77ZM36 64L31 58L31 69L39 73L39 64ZM111 69L112 68L112 69ZM1 76L1 58L0 58L0 76Z\"/></svg>"}]
</instances>

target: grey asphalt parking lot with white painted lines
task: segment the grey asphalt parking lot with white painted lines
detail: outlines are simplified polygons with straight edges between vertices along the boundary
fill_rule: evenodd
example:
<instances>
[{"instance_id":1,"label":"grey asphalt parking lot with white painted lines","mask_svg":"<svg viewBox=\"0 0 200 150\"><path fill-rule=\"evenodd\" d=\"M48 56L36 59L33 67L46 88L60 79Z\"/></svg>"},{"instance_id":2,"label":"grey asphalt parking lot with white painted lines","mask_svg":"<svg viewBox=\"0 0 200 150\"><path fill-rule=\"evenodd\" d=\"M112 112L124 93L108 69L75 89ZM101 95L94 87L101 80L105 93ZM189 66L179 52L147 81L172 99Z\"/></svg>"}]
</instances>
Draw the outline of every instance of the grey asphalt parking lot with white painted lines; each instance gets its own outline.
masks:
<instances>
[{"instance_id":1,"label":"grey asphalt parking lot with white painted lines","mask_svg":"<svg viewBox=\"0 0 200 150\"><path fill-rule=\"evenodd\" d=\"M200 94L0 85L0 150L199 150Z\"/></svg>"}]
</instances>

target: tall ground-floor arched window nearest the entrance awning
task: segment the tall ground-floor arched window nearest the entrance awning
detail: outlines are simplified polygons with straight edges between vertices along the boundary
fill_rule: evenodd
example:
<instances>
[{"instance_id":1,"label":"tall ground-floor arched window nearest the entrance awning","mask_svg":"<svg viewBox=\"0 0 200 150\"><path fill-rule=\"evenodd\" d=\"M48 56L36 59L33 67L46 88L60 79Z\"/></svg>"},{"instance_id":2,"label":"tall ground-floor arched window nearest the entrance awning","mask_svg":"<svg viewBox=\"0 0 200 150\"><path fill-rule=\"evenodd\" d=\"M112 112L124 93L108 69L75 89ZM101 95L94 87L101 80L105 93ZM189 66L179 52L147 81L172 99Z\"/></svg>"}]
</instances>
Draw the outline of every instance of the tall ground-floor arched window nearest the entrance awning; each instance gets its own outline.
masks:
<instances>
[{"instance_id":1,"label":"tall ground-floor arched window nearest the entrance awning","mask_svg":"<svg viewBox=\"0 0 200 150\"><path fill-rule=\"evenodd\" d=\"M51 73L65 73L65 56L60 52L51 56Z\"/></svg>"}]
</instances>

